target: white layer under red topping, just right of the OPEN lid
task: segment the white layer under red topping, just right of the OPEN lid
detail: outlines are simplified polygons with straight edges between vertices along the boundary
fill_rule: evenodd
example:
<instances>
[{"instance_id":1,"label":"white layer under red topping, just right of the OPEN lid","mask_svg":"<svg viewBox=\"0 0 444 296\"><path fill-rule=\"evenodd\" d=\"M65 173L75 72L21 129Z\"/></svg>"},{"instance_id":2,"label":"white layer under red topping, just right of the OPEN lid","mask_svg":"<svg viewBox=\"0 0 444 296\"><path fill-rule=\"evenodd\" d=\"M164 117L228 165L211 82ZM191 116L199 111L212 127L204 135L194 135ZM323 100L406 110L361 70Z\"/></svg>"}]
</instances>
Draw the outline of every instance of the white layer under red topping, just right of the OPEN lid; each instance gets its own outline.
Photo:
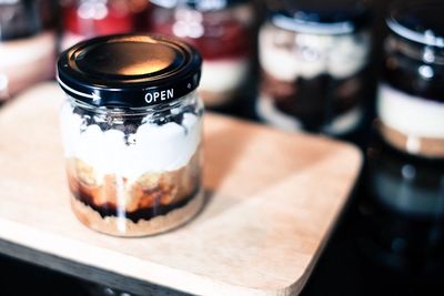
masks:
<instances>
[{"instance_id":1,"label":"white layer under red topping, just right of the OPEN lid","mask_svg":"<svg viewBox=\"0 0 444 296\"><path fill-rule=\"evenodd\" d=\"M249 78L249 71L248 57L203 61L199 89L216 93L235 91L244 84Z\"/></svg>"}]
</instances>

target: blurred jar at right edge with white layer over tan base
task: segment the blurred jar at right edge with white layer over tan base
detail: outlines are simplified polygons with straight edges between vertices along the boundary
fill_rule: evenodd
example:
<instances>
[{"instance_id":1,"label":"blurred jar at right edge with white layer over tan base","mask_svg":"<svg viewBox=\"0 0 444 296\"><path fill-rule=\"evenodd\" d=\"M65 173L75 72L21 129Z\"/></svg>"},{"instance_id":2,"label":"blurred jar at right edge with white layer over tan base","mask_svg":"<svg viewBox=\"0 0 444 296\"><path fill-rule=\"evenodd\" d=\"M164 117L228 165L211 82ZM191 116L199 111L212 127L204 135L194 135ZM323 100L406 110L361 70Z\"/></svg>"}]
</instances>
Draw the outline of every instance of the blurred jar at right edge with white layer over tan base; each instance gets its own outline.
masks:
<instances>
[{"instance_id":1,"label":"blurred jar at right edge with white layer over tan base","mask_svg":"<svg viewBox=\"0 0 444 296\"><path fill-rule=\"evenodd\" d=\"M387 19L391 34L385 42L376 112L381 132L393 146L443 157L444 25L436 16L443 10L438 1L422 3L398 8ZM415 17L414 9L418 9Z\"/></svg>"}]
</instances>

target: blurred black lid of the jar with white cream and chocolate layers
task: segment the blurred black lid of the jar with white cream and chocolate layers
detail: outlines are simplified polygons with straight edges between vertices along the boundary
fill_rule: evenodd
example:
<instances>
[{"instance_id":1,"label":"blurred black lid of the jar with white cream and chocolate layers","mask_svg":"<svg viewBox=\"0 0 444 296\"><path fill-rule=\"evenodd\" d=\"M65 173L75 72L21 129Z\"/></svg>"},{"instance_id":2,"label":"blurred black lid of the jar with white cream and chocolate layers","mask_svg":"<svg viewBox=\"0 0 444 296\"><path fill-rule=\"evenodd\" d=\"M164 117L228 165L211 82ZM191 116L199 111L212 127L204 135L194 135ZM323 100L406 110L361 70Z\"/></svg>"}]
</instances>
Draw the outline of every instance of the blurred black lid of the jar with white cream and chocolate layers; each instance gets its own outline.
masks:
<instances>
[{"instance_id":1,"label":"blurred black lid of the jar with white cream and chocolate layers","mask_svg":"<svg viewBox=\"0 0 444 296\"><path fill-rule=\"evenodd\" d=\"M346 34L369 24L369 17L363 0L287 0L273 9L271 21L301 33Z\"/></svg>"}]
</instances>

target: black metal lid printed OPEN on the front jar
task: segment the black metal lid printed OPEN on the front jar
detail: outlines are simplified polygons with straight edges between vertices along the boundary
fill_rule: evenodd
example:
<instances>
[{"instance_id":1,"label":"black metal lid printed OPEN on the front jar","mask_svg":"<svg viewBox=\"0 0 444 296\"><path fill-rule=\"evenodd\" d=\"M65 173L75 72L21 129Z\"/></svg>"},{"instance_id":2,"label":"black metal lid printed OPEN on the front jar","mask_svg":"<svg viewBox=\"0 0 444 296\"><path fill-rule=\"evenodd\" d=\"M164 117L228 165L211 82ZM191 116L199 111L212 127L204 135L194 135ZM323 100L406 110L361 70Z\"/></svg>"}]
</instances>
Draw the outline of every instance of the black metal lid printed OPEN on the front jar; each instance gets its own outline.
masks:
<instances>
[{"instance_id":1,"label":"black metal lid printed OPEN on the front jar","mask_svg":"<svg viewBox=\"0 0 444 296\"><path fill-rule=\"evenodd\" d=\"M201 57L173 38L120 34L94 38L64 51L58 81L94 106L143 108L170 103L195 90Z\"/></svg>"}]
</instances>

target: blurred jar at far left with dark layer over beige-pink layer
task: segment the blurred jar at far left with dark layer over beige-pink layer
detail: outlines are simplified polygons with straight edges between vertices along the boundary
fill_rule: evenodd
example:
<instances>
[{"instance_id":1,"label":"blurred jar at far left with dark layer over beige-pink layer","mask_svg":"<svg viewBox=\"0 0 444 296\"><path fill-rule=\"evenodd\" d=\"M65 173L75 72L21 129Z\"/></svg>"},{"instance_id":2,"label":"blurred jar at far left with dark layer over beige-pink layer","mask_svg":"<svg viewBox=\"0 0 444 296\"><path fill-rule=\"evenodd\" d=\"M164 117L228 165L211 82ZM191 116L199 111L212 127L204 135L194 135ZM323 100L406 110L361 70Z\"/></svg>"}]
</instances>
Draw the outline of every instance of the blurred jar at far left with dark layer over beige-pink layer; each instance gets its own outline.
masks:
<instances>
[{"instance_id":1,"label":"blurred jar at far left with dark layer over beige-pink layer","mask_svg":"<svg viewBox=\"0 0 444 296\"><path fill-rule=\"evenodd\" d=\"M48 4L0 2L0 102L54 75L56 33L41 13Z\"/></svg>"}]
</instances>

